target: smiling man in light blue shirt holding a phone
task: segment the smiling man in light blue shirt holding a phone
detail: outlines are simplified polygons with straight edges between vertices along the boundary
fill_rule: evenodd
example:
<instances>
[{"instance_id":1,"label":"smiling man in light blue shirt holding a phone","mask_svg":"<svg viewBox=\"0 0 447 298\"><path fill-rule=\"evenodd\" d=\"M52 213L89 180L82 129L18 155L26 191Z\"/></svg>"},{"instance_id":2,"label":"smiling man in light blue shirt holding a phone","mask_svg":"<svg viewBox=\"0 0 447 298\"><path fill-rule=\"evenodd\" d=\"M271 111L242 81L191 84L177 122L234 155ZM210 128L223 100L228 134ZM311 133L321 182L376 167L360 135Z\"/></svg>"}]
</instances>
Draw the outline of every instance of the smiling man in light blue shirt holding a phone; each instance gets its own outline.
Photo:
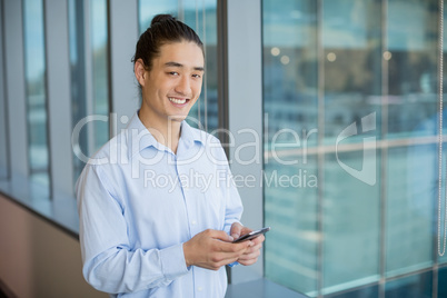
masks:
<instances>
[{"instance_id":1,"label":"smiling man in light blue shirt holding a phone","mask_svg":"<svg viewBox=\"0 0 447 298\"><path fill-rule=\"evenodd\" d=\"M231 242L251 230L239 222L225 152L185 121L200 96L203 44L159 14L133 63L141 108L77 183L85 278L112 297L224 297L225 265L256 262L265 238Z\"/></svg>"}]
</instances>

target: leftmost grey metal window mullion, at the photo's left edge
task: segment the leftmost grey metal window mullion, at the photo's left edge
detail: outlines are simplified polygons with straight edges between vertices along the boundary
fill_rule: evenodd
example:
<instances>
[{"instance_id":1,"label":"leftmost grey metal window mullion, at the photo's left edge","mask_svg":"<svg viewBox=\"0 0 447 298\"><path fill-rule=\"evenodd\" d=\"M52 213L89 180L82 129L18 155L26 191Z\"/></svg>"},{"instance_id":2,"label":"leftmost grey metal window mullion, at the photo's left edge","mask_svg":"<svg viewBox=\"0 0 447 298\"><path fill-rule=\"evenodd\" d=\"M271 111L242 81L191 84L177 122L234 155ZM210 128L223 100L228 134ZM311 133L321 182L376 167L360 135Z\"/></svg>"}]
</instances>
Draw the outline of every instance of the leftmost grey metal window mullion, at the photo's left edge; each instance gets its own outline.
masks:
<instances>
[{"instance_id":1,"label":"leftmost grey metal window mullion, at the photo's left edge","mask_svg":"<svg viewBox=\"0 0 447 298\"><path fill-rule=\"evenodd\" d=\"M11 175L29 176L22 1L3 2L6 101Z\"/></svg>"}]
</instances>

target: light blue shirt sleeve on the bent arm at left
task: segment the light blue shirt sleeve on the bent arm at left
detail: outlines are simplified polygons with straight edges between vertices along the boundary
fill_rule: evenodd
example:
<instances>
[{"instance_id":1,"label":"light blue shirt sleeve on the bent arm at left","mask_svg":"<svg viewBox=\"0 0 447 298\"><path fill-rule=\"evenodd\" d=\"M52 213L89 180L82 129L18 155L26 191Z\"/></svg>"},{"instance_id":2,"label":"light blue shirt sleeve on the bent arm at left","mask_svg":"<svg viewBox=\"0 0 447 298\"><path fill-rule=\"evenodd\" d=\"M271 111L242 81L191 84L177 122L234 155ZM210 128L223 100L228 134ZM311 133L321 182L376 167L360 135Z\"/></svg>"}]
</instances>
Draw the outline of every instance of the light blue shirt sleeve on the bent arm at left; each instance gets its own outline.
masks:
<instances>
[{"instance_id":1,"label":"light blue shirt sleeve on the bent arm at left","mask_svg":"<svg viewBox=\"0 0 447 298\"><path fill-rule=\"evenodd\" d=\"M182 244L131 249L123 217L126 206L100 167L88 165L76 188L86 280L98 290L118 294L167 286L186 275Z\"/></svg>"}]
</instances>

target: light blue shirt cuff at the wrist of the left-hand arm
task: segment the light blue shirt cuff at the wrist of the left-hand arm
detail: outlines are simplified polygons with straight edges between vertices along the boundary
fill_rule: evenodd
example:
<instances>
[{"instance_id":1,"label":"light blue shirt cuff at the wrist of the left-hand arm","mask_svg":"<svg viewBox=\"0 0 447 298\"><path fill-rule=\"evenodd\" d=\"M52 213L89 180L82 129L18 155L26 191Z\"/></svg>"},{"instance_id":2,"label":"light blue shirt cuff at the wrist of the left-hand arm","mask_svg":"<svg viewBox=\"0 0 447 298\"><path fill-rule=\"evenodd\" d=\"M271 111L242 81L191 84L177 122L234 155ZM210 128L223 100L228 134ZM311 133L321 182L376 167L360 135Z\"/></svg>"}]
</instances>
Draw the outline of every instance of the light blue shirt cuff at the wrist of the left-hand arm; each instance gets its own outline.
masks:
<instances>
[{"instance_id":1,"label":"light blue shirt cuff at the wrist of the left-hand arm","mask_svg":"<svg viewBox=\"0 0 447 298\"><path fill-rule=\"evenodd\" d=\"M160 250L161 268L167 279L173 280L188 274L186 267L183 244L171 246Z\"/></svg>"}]
</instances>

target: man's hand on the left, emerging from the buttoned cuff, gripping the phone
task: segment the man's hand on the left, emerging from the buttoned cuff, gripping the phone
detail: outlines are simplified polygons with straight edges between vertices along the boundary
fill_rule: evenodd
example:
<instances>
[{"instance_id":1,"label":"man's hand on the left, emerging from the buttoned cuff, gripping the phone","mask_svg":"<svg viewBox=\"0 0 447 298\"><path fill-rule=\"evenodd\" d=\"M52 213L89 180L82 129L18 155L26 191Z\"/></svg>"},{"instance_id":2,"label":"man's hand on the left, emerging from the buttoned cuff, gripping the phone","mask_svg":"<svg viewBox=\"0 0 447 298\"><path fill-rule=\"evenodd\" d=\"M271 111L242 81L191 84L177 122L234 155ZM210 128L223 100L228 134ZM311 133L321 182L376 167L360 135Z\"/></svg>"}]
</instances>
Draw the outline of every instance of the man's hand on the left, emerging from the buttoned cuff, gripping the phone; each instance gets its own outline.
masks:
<instances>
[{"instance_id":1,"label":"man's hand on the left, emerging from the buttoned cuff, gripping the phone","mask_svg":"<svg viewBox=\"0 0 447 298\"><path fill-rule=\"evenodd\" d=\"M237 261L254 242L232 244L232 237L221 230L205 230L183 244L187 267L198 266L218 270L220 267Z\"/></svg>"}]
</instances>

